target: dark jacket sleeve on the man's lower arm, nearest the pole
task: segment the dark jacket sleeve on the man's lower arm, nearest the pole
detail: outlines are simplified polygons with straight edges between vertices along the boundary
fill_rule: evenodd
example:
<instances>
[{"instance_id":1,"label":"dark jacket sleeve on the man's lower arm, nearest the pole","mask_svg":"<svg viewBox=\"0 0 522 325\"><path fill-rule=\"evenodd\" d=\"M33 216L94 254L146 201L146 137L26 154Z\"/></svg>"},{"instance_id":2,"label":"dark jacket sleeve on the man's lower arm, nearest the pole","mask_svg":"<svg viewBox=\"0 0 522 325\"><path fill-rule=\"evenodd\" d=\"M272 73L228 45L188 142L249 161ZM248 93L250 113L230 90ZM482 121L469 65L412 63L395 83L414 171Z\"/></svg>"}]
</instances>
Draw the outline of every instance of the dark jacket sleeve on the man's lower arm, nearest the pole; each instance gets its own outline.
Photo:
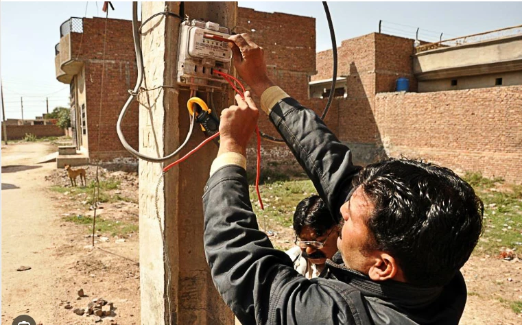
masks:
<instances>
[{"instance_id":1,"label":"dark jacket sleeve on the man's lower arm, nearest the pole","mask_svg":"<svg viewBox=\"0 0 522 325\"><path fill-rule=\"evenodd\" d=\"M205 186L203 208L212 279L241 324L353 324L339 292L298 274L258 230L244 169L218 169Z\"/></svg>"}]
</instances>

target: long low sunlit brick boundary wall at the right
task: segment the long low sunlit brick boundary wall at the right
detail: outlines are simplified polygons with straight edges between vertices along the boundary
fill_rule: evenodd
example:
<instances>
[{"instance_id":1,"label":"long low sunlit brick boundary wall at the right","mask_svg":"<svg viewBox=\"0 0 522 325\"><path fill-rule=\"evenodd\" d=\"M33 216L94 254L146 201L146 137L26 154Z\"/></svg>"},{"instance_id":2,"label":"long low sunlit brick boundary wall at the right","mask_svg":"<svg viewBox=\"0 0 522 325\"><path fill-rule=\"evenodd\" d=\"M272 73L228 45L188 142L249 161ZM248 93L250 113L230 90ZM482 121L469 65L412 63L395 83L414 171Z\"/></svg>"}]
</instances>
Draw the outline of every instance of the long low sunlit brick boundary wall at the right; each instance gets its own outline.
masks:
<instances>
[{"instance_id":1,"label":"long low sunlit brick boundary wall at the right","mask_svg":"<svg viewBox=\"0 0 522 325\"><path fill-rule=\"evenodd\" d=\"M381 93L376 106L389 156L522 182L522 86Z\"/></svg>"}]
</instances>

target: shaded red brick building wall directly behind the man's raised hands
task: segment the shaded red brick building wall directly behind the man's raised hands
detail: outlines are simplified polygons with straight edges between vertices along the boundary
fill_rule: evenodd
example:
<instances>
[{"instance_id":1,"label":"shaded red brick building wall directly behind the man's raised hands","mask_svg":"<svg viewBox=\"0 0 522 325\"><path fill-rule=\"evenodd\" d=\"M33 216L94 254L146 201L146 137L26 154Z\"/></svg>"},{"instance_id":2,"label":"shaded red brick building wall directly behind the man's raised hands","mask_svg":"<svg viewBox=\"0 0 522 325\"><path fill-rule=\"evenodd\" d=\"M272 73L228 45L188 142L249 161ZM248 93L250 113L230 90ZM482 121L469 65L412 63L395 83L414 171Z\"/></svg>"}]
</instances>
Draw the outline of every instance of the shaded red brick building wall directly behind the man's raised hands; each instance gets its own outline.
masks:
<instances>
[{"instance_id":1,"label":"shaded red brick building wall directly behind the man's raised hands","mask_svg":"<svg viewBox=\"0 0 522 325\"><path fill-rule=\"evenodd\" d=\"M302 104L311 105L322 112L326 101L323 104L320 100L308 99L309 77L316 73L316 19L238 8L234 32L250 34L252 40L263 47L268 74L278 86ZM259 105L259 98L254 97L254 101ZM334 111L332 109L330 114L335 115ZM264 114L259 118L259 129L278 137L274 126ZM249 169L256 165L255 144L256 140L252 139L248 148ZM261 146L263 166L285 165L289 169L299 169L286 145L263 139Z\"/></svg>"}]
</instances>

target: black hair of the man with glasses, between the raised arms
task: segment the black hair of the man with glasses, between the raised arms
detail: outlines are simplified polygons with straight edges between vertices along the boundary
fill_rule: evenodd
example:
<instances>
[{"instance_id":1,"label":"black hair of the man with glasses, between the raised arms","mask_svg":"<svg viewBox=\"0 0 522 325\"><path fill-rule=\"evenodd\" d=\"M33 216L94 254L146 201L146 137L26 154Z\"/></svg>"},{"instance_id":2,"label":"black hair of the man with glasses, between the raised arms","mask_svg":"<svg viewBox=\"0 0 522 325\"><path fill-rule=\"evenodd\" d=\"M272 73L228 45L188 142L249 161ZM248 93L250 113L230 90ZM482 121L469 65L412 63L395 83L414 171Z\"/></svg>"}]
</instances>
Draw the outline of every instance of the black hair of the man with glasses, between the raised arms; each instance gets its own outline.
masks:
<instances>
[{"instance_id":1,"label":"black hair of the man with glasses, between the raised arms","mask_svg":"<svg viewBox=\"0 0 522 325\"><path fill-rule=\"evenodd\" d=\"M337 217L338 218L338 217ZM319 195L311 195L299 202L294 213L294 231L301 233L303 226L309 226L317 237L321 237L333 226L339 224L334 219Z\"/></svg>"}]
</instances>

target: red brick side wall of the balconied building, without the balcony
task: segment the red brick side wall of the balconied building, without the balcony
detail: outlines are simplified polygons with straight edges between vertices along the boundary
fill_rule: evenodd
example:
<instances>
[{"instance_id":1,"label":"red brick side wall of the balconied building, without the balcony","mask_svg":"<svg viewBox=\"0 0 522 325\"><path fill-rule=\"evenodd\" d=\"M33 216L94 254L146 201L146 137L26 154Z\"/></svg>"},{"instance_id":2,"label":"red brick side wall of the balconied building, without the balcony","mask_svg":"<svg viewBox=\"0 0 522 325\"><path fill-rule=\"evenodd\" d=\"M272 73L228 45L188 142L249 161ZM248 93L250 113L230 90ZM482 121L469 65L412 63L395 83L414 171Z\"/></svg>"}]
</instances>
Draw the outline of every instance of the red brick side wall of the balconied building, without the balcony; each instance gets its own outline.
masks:
<instances>
[{"instance_id":1,"label":"red brick side wall of the balconied building, without the balcony","mask_svg":"<svg viewBox=\"0 0 522 325\"><path fill-rule=\"evenodd\" d=\"M116 132L123 104L134 88L137 67L132 40L132 22L121 19L84 19L83 34L75 34L71 42L73 56L84 62L88 152L92 160L112 160L130 156ZM107 34L105 27L107 23ZM104 37L106 37L104 56ZM105 60L103 60L105 58ZM103 89L102 89L102 68ZM101 99L101 105L100 105ZM138 147L139 112L132 101L122 131L128 143Z\"/></svg>"}]
</instances>

